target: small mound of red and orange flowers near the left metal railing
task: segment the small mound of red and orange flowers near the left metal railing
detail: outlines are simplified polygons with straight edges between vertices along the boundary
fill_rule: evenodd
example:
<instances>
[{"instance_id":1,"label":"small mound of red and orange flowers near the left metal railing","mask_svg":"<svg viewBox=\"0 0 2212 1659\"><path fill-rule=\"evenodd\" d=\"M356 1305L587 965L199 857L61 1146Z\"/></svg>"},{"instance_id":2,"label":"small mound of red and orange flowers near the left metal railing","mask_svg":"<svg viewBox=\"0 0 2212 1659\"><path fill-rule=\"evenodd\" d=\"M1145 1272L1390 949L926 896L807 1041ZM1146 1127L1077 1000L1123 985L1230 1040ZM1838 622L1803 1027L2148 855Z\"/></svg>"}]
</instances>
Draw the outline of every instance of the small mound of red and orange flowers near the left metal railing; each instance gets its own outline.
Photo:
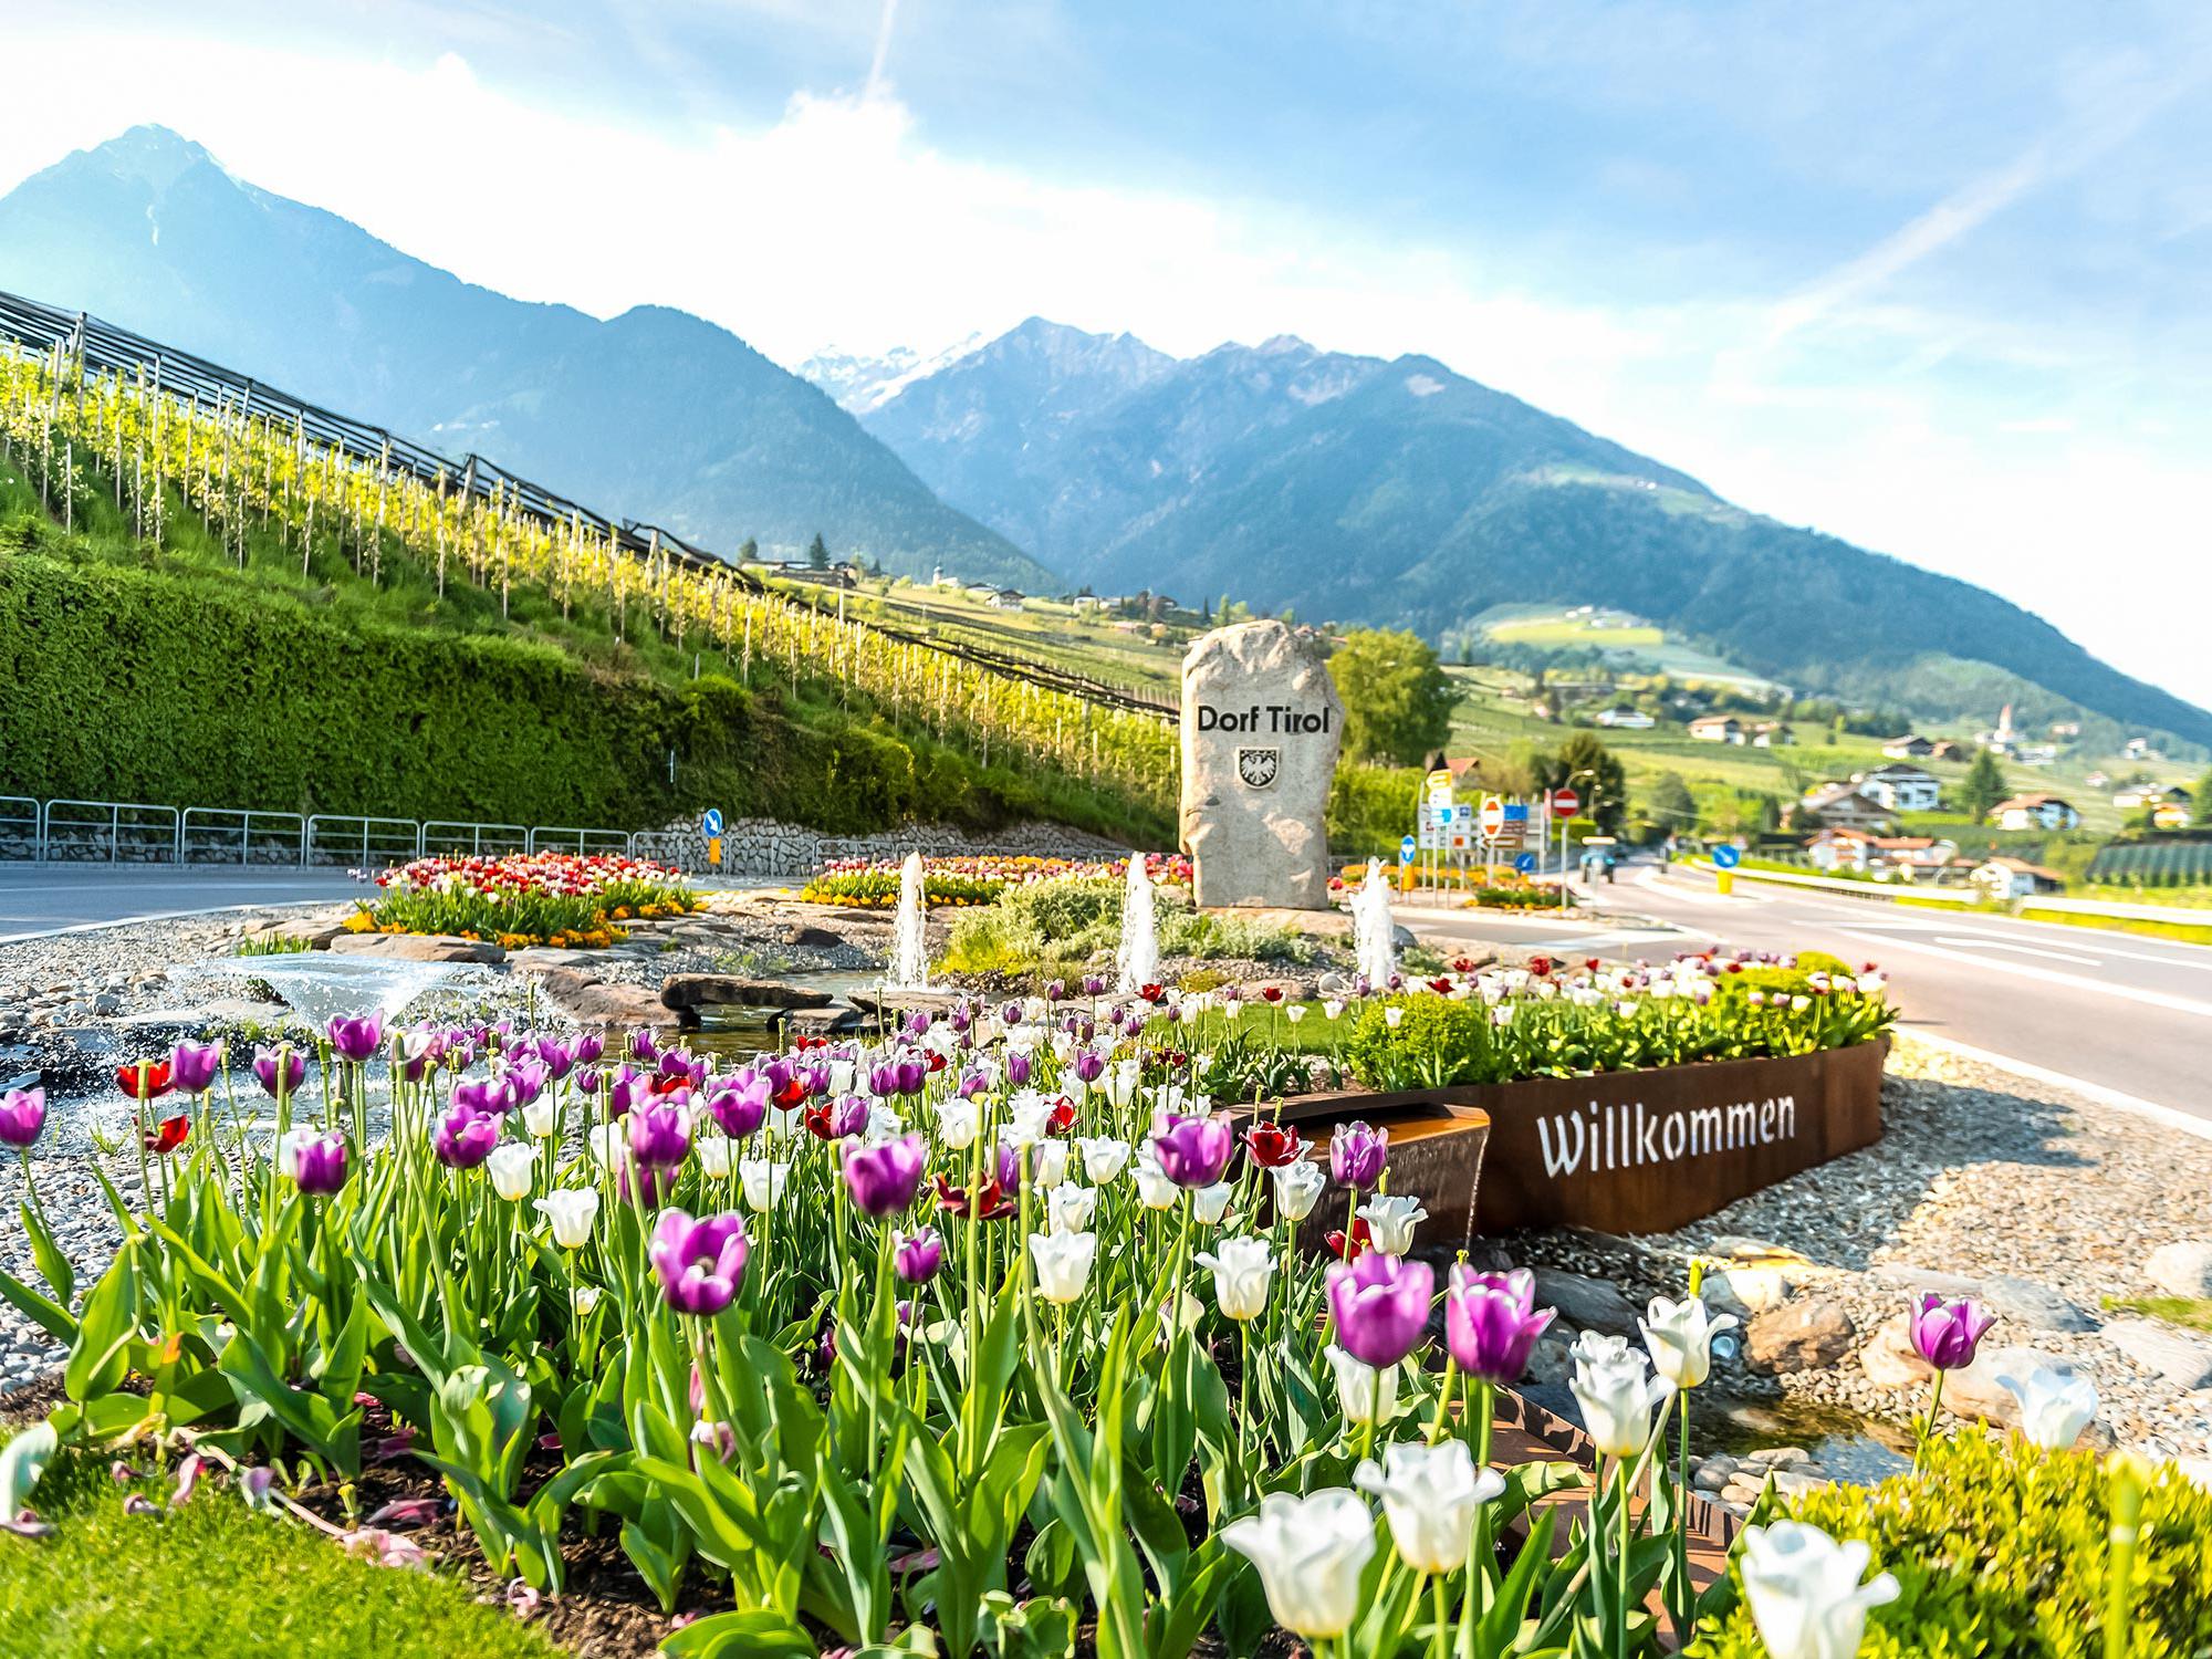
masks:
<instances>
[{"instance_id":1,"label":"small mound of red and orange flowers near the left metal railing","mask_svg":"<svg viewBox=\"0 0 2212 1659\"><path fill-rule=\"evenodd\" d=\"M604 947L622 922L701 902L666 865L597 852L416 858L376 885L380 896L347 920L356 933L451 933L509 949Z\"/></svg>"}]
</instances>

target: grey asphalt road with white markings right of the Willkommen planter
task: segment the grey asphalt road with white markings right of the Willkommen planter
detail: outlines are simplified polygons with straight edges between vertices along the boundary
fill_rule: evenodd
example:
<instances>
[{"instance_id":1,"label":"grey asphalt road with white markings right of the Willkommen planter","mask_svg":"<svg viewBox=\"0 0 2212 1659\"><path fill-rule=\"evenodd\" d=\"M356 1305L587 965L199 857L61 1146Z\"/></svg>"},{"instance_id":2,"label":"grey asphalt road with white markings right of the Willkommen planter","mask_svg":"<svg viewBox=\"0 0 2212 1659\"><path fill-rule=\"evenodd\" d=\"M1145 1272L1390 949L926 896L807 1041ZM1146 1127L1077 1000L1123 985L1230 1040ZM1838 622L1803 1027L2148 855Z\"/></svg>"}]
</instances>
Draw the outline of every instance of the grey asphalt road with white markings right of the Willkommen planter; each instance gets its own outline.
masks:
<instances>
[{"instance_id":1,"label":"grey asphalt road with white markings right of the Willkommen planter","mask_svg":"<svg viewBox=\"0 0 2212 1659\"><path fill-rule=\"evenodd\" d=\"M1562 925L1422 905L1400 907L1398 920L1440 947L1509 942L1666 960L1725 945L1878 962L1911 1031L2212 1121L2212 949L2203 945L1947 916L1752 880L1723 898L1710 876L1659 865L1624 865L1590 900L1650 925Z\"/></svg>"}]
</instances>

